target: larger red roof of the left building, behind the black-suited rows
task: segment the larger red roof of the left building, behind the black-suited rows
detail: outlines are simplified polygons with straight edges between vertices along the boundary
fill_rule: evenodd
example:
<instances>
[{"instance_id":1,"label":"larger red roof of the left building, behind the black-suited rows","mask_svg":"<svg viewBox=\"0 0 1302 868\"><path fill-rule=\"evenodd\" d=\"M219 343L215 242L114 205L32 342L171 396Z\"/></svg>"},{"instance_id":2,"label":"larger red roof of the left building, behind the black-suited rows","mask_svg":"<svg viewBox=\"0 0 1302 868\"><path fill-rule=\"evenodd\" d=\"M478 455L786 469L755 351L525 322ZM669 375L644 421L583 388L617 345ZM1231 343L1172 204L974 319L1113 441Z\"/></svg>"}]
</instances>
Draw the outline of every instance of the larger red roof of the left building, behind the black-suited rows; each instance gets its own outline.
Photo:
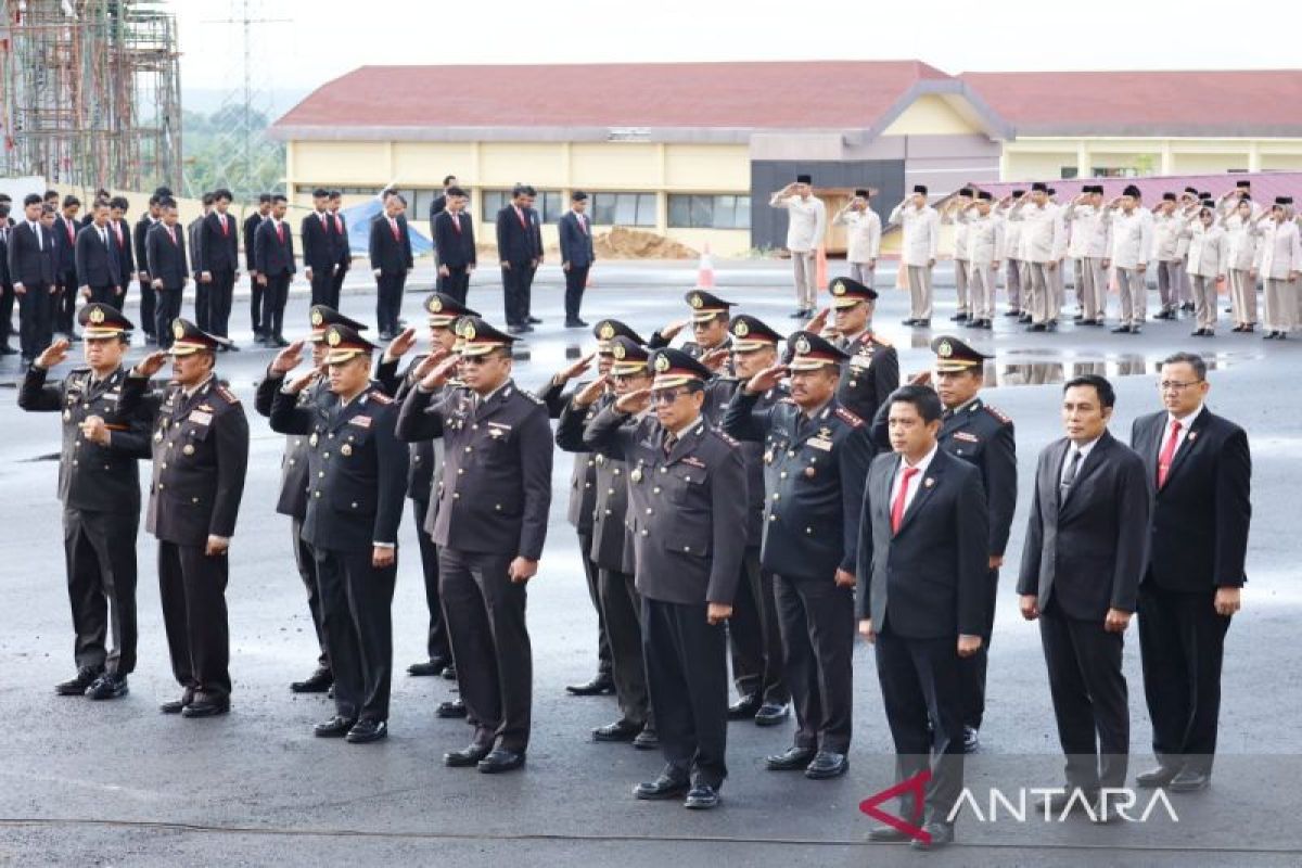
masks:
<instances>
[{"instance_id":1,"label":"larger red roof of the left building, behind the black-suited rows","mask_svg":"<svg viewBox=\"0 0 1302 868\"><path fill-rule=\"evenodd\" d=\"M362 66L276 126L871 126L919 61Z\"/></svg>"}]
</instances>

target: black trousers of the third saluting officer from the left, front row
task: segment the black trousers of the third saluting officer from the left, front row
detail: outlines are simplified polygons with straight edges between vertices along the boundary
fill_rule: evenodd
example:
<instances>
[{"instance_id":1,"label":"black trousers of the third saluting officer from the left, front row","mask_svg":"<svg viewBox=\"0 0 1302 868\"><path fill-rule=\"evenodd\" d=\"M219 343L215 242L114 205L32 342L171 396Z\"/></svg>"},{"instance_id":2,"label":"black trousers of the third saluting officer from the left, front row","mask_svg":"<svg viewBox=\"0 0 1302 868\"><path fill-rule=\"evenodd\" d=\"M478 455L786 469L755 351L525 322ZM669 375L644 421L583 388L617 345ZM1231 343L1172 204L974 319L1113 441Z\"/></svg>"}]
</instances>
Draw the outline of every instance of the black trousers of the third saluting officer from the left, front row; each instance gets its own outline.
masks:
<instances>
[{"instance_id":1,"label":"black trousers of the third saluting officer from the left, front row","mask_svg":"<svg viewBox=\"0 0 1302 868\"><path fill-rule=\"evenodd\" d=\"M322 627L335 675L335 711L349 718L389 718L393 679L393 566L371 566L371 549L312 548Z\"/></svg>"}]
</instances>

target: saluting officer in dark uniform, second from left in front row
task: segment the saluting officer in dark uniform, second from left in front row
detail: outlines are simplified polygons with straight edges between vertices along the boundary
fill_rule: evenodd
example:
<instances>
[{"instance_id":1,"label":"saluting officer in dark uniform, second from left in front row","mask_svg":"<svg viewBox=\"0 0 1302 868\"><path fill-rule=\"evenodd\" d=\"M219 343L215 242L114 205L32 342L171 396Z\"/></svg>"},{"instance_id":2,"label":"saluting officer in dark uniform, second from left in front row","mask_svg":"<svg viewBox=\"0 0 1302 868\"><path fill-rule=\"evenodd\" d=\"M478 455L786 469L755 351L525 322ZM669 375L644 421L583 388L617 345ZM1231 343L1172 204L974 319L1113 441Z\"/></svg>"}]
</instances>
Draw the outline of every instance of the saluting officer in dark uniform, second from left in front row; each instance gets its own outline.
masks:
<instances>
[{"instance_id":1,"label":"saluting officer in dark uniform, second from left in front row","mask_svg":"<svg viewBox=\"0 0 1302 868\"><path fill-rule=\"evenodd\" d=\"M159 584L172 673L181 699L164 713L211 717L230 711L230 631L227 552L249 466L243 406L216 379L225 338L185 319L172 321L172 345L132 368L120 406L154 416L154 479L146 527L159 540ZM172 381L146 394L148 377L171 355Z\"/></svg>"}]
</instances>

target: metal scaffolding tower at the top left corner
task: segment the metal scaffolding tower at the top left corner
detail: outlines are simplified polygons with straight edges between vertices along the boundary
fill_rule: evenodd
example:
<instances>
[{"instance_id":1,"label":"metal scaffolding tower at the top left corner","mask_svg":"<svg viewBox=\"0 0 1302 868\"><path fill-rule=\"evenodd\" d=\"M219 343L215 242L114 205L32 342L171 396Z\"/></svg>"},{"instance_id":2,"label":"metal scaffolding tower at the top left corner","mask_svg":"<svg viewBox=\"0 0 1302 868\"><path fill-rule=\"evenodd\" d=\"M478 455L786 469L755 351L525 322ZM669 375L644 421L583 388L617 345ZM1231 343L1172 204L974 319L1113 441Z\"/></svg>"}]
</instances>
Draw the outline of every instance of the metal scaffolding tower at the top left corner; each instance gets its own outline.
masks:
<instances>
[{"instance_id":1,"label":"metal scaffolding tower at the top left corner","mask_svg":"<svg viewBox=\"0 0 1302 868\"><path fill-rule=\"evenodd\" d=\"M181 185L176 20L163 0L0 0L0 172Z\"/></svg>"}]
</instances>

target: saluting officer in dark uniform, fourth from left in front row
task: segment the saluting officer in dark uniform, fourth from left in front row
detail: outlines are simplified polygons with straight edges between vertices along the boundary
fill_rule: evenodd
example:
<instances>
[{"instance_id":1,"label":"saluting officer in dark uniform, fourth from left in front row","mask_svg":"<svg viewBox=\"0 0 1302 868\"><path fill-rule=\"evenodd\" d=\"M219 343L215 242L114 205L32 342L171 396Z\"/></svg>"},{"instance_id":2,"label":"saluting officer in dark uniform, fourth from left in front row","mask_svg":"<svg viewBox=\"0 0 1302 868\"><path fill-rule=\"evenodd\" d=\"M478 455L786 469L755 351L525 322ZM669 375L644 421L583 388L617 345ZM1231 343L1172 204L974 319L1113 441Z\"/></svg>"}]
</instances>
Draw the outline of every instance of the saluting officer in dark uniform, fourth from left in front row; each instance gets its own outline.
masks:
<instances>
[{"instance_id":1,"label":"saluting officer in dark uniform, fourth from left in front row","mask_svg":"<svg viewBox=\"0 0 1302 868\"><path fill-rule=\"evenodd\" d=\"M475 724L471 743L444 755L483 773L525 764L533 707L533 649L525 584L538 573L552 498L547 406L510 379L514 338L462 320L461 357L431 355L408 393L397 435L443 437L439 509L427 519L439 547L444 610L457 685ZM466 388L439 394L460 366Z\"/></svg>"}]
</instances>

